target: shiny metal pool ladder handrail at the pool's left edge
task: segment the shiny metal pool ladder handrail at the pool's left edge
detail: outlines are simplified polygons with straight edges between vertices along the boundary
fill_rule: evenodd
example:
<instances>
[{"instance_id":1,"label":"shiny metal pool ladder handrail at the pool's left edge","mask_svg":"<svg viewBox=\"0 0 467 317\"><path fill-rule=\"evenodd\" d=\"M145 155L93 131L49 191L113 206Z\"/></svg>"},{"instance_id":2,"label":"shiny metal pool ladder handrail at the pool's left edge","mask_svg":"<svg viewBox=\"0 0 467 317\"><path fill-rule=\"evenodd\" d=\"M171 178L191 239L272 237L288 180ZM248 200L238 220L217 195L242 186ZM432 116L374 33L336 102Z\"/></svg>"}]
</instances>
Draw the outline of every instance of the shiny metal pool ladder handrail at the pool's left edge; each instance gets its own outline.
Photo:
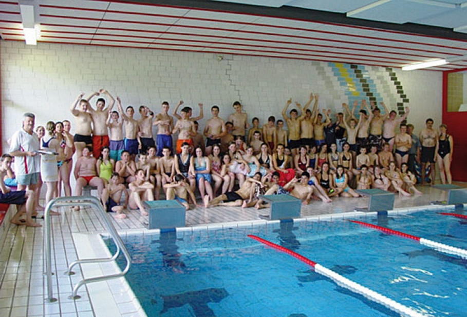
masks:
<instances>
[{"instance_id":1,"label":"shiny metal pool ladder handrail at the pool's left edge","mask_svg":"<svg viewBox=\"0 0 467 317\"><path fill-rule=\"evenodd\" d=\"M65 272L65 274L68 274L68 275L74 274L71 271L71 268L77 264L102 263L102 262L114 261L115 259L117 259L117 256L120 254L120 251L122 251L126 259L126 267L120 273L102 275L102 276L97 276L95 278L81 280L78 284L76 284L73 287L73 292L71 296L69 296L70 299L79 299L81 296L77 295L78 289L87 283L100 282L100 281L120 278L121 276L125 275L126 272L128 272L131 266L130 256L128 254L128 251L125 248L125 245L123 244L123 241L120 235L117 233L117 230L115 229L114 225L110 222L107 213L105 212L104 208L101 205L101 202L94 196L67 196L67 197L55 198L47 204L47 207L45 208L45 212L44 212L44 221L45 221L45 230L46 230L45 232L46 251L45 252L46 252L46 275L47 275L47 301L49 301L50 303L57 301L57 299L53 298L53 294L52 294L52 274L53 273L52 273L52 252L51 252L51 231L50 231L51 230L50 209L52 208L52 206L95 207L97 210L97 214L100 216L101 220L104 222L104 225L107 231L109 232L110 236L114 240L115 245L117 246L117 251L111 257L105 257L105 258L99 258L99 259L81 259L81 260L78 259L74 261L68 266L68 270Z\"/></svg>"}]
</instances>

